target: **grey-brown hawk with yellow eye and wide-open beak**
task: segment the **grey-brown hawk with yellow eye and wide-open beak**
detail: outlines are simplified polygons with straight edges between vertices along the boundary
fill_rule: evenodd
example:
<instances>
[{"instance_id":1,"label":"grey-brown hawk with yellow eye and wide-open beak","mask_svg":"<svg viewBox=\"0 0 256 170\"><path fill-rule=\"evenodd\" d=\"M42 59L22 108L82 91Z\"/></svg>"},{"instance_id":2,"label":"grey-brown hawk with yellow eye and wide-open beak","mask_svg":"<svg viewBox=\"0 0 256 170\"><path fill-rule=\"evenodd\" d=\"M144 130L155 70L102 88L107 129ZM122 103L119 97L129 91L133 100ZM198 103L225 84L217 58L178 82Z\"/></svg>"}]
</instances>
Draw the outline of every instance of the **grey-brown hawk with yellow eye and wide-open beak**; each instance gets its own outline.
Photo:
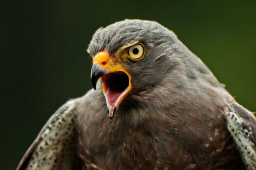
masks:
<instances>
[{"instance_id":1,"label":"grey-brown hawk with yellow eye and wide-open beak","mask_svg":"<svg viewBox=\"0 0 256 170\"><path fill-rule=\"evenodd\" d=\"M100 27L93 88L42 128L17 169L256 169L256 120L157 22Z\"/></svg>"}]
</instances>

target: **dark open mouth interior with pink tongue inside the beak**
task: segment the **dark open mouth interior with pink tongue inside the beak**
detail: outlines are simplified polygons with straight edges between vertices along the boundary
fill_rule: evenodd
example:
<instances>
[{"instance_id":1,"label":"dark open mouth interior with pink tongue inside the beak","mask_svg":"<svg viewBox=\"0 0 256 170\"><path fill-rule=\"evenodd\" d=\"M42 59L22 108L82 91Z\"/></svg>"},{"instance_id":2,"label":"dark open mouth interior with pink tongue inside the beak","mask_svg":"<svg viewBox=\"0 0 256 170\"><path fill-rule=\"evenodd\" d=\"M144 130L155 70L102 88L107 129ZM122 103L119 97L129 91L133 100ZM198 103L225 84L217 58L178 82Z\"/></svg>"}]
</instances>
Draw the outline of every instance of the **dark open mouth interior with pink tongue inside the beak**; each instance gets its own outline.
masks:
<instances>
[{"instance_id":1,"label":"dark open mouth interior with pink tongue inside the beak","mask_svg":"<svg viewBox=\"0 0 256 170\"><path fill-rule=\"evenodd\" d=\"M103 75L102 82L106 100L112 107L125 97L129 89L129 77L122 71Z\"/></svg>"}]
</instances>

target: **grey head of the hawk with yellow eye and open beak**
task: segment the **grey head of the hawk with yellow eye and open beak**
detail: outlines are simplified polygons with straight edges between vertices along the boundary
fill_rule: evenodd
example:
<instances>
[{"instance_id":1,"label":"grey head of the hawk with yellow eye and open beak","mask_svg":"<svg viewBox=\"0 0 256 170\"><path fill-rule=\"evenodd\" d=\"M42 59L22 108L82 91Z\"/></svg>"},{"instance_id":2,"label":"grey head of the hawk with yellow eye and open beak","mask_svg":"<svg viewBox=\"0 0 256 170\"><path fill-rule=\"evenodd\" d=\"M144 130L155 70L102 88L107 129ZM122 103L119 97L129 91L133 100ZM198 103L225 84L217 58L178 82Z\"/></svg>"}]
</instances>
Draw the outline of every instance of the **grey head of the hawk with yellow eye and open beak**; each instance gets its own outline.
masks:
<instances>
[{"instance_id":1,"label":"grey head of the hawk with yellow eye and open beak","mask_svg":"<svg viewBox=\"0 0 256 170\"><path fill-rule=\"evenodd\" d=\"M154 89L164 91L169 86L173 86L171 93L175 94L175 88L182 89L184 76L196 76L191 69L193 64L187 69L186 63L191 63L188 59L184 65L184 56L191 52L172 31L157 22L124 20L100 27L88 52L93 60L93 88L100 79L109 118L132 95L147 95L148 90ZM199 66L205 70L202 62Z\"/></svg>"}]
</instances>

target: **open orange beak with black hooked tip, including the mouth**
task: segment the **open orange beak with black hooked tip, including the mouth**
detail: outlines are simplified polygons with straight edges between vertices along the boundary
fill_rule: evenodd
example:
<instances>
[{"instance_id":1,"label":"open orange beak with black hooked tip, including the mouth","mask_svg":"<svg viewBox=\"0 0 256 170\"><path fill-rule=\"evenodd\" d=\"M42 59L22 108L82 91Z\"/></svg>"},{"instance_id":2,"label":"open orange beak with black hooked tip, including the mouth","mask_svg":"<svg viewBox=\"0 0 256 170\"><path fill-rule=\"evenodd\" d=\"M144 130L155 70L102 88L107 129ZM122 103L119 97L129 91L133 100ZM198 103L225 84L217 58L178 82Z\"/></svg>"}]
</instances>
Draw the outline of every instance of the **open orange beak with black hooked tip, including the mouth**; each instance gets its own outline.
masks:
<instances>
[{"instance_id":1,"label":"open orange beak with black hooked tip, including the mouth","mask_svg":"<svg viewBox=\"0 0 256 170\"><path fill-rule=\"evenodd\" d=\"M131 76L121 64L113 63L106 51L98 52L93 58L91 70L93 88L96 89L97 81L102 81L102 92L106 98L108 117L113 119L122 100L131 90Z\"/></svg>"}]
</instances>

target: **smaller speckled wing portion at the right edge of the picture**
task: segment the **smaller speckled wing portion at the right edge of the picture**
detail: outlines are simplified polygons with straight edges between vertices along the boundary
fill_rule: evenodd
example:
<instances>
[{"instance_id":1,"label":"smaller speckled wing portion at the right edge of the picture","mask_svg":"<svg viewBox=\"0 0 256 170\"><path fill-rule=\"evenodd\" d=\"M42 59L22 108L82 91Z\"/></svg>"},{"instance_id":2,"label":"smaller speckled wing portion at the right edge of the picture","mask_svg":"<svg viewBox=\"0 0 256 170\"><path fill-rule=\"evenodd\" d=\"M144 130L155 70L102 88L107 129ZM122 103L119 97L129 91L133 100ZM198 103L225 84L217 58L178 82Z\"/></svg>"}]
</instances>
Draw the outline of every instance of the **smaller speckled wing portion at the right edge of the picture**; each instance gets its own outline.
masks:
<instances>
[{"instance_id":1,"label":"smaller speckled wing portion at the right edge of the picture","mask_svg":"<svg viewBox=\"0 0 256 170\"><path fill-rule=\"evenodd\" d=\"M234 103L226 111L227 127L247 169L256 169L256 118Z\"/></svg>"}]
</instances>

